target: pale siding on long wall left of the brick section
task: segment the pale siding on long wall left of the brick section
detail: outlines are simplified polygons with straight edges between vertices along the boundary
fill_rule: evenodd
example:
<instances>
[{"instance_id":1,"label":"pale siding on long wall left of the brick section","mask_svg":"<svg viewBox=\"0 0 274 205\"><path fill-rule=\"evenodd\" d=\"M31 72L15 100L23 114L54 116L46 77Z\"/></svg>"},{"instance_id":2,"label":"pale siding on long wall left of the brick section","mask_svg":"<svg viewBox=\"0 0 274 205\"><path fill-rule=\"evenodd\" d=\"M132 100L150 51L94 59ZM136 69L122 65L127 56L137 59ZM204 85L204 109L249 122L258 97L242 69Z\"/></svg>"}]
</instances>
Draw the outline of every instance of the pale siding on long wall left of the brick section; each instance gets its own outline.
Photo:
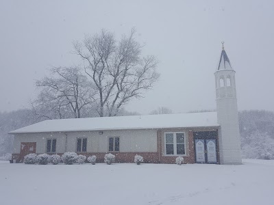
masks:
<instances>
[{"instance_id":1,"label":"pale siding on long wall left of the brick section","mask_svg":"<svg viewBox=\"0 0 274 205\"><path fill-rule=\"evenodd\" d=\"M120 152L157 152L157 131L135 130L16 134L14 154L20 153L21 142L36 142L36 153L45 153L47 138L57 139L57 153L75 152L77 137L88 139L87 152L108 152L108 137L120 137Z\"/></svg>"}]
</instances>

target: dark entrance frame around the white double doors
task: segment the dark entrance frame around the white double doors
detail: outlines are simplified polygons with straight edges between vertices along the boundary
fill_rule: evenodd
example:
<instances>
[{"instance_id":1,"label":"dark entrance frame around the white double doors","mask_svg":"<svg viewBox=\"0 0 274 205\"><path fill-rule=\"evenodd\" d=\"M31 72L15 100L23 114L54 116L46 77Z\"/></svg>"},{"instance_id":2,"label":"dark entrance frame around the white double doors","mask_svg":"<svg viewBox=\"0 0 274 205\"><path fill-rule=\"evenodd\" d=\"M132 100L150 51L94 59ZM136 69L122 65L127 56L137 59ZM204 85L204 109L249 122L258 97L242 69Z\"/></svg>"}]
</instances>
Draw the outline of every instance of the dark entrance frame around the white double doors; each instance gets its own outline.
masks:
<instances>
[{"instance_id":1,"label":"dark entrance frame around the white double doors","mask_svg":"<svg viewBox=\"0 0 274 205\"><path fill-rule=\"evenodd\" d=\"M196 143L195 139L201 139L203 140L204 144L204 150L205 150L205 160L206 162L197 162L196 158ZM208 163L208 149L207 149L207 143L206 139L215 139L216 140L216 163ZM219 140L218 140L218 130L216 131L199 131L199 132L193 132L193 144L194 144L194 153L195 153L195 163L201 163L201 164L219 164Z\"/></svg>"}]
</instances>

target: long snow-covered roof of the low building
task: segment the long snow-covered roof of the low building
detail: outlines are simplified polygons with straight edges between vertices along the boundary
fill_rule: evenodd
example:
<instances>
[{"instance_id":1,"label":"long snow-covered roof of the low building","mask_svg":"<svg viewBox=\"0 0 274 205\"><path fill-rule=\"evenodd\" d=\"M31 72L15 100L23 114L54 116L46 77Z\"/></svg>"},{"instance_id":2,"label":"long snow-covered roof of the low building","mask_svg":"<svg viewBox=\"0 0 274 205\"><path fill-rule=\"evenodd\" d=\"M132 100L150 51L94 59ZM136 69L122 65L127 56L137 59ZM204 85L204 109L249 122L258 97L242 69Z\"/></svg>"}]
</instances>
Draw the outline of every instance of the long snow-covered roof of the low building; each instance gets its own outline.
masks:
<instances>
[{"instance_id":1,"label":"long snow-covered roof of the low building","mask_svg":"<svg viewBox=\"0 0 274 205\"><path fill-rule=\"evenodd\" d=\"M216 112L45 120L10 134L212 126L219 126Z\"/></svg>"}]
</instances>

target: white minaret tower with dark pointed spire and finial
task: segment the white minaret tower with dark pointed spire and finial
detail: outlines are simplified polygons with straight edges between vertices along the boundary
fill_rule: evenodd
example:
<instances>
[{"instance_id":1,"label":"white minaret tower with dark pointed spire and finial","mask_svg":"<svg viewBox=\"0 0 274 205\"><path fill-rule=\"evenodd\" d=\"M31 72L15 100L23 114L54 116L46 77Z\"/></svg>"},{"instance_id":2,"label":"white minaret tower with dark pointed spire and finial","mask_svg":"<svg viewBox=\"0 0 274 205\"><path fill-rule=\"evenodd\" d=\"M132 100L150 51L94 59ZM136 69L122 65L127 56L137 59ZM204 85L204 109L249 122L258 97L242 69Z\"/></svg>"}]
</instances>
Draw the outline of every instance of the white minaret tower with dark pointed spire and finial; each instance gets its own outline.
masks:
<instances>
[{"instance_id":1,"label":"white minaret tower with dark pointed spire and finial","mask_svg":"<svg viewBox=\"0 0 274 205\"><path fill-rule=\"evenodd\" d=\"M223 44L224 42L222 42ZM241 164L240 129L236 98L235 71L223 47L215 74L216 104L221 164Z\"/></svg>"}]
</instances>

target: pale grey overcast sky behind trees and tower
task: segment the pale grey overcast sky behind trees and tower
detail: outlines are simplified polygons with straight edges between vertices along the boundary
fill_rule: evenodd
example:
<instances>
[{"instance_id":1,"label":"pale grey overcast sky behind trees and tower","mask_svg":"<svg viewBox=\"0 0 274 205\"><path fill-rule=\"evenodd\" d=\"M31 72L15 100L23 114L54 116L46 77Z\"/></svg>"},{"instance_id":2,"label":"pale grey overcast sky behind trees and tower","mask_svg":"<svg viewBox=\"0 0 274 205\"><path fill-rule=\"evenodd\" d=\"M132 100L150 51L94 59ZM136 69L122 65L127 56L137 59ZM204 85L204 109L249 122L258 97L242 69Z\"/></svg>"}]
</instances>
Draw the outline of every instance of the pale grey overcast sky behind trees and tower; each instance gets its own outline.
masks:
<instances>
[{"instance_id":1,"label":"pale grey overcast sky behind trees and tower","mask_svg":"<svg viewBox=\"0 0 274 205\"><path fill-rule=\"evenodd\" d=\"M129 111L215 109L221 41L236 70L238 109L274 111L274 1L0 1L0 111L28 107L34 79L79 64L73 40L136 27L160 81Z\"/></svg>"}]
</instances>

